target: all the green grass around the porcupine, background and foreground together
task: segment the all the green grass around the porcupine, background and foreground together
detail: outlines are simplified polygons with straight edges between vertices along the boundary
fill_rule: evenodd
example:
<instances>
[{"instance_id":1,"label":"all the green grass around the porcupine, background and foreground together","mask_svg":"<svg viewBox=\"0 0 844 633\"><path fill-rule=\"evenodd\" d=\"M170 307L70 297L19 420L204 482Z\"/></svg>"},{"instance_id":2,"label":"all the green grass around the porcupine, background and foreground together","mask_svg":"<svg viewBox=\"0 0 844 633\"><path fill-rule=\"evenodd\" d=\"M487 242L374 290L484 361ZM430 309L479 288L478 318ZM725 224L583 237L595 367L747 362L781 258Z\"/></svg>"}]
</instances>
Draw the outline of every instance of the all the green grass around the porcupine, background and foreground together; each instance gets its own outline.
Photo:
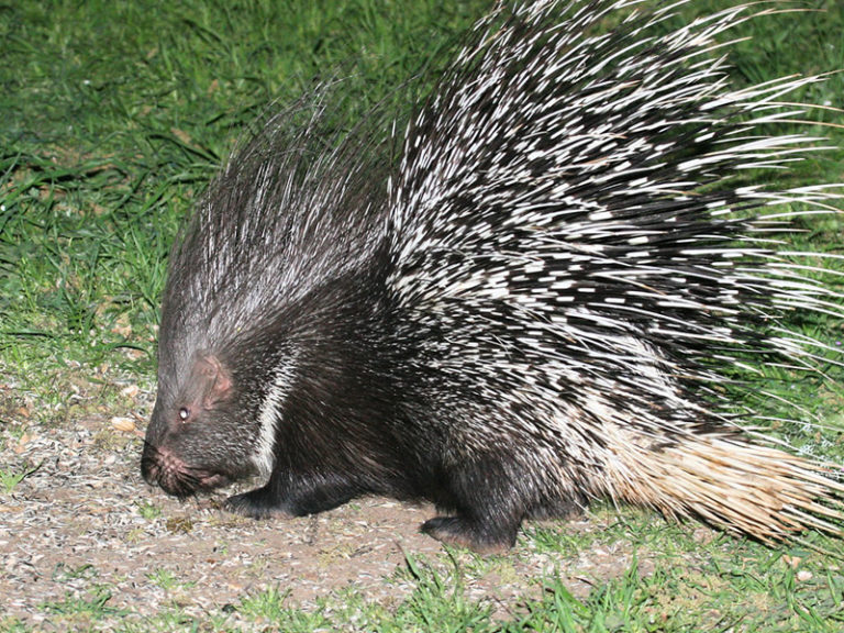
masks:
<instances>
[{"instance_id":1,"label":"all the green grass around the porcupine, background and foreground together","mask_svg":"<svg viewBox=\"0 0 844 633\"><path fill-rule=\"evenodd\" d=\"M80 371L116 371L149 384L169 244L244 130L273 103L293 101L316 77L348 77L347 107L364 112L412 75L435 76L460 31L488 4L0 2L0 381L29 395L48 423L66 419L57 412L65 406L62 393ZM676 24L724 5L692 2ZM736 31L753 37L730 51L736 84L844 69L844 8L817 0L801 5L812 11L769 15ZM797 98L841 107L844 74L833 73ZM806 118L842 123L840 113L823 109ZM810 133L828 136L834 149L779 176L789 186L844 180L844 131ZM841 252L840 221L812 220L803 227L796 248ZM832 345L844 341L832 320L797 325ZM841 390L784 369L769 378L775 396L799 402L807 420L823 421L784 434L809 452L840 457ZM120 406L118 397L111 402ZM0 425L25 423L0 408ZM23 476L3 473L5 493ZM266 589L203 622L175 606L126 630L216 630L229 626L232 613L240 624L231 630L259 623L288 631L844 630L837 557L728 537L701 544L687 529L651 514L628 510L620 517L598 535L570 534L564 524L532 528L524 543L576 557L626 540L648 553L651 568L645 571L638 558L622 577L597 579L587 597L573 595L558 575L537 578L519 612L503 617L466 598L465 588L490 566L506 568L508 558L464 555L446 571L409 558L406 573L415 589L389 610L349 592L306 613L286 603L284 590ZM821 549L841 546L819 534L807 538ZM89 593L45 609L96 629L111 617L110 590L89 580ZM168 586L173 580L158 578ZM0 620L0 631L29 630Z\"/></svg>"}]
</instances>

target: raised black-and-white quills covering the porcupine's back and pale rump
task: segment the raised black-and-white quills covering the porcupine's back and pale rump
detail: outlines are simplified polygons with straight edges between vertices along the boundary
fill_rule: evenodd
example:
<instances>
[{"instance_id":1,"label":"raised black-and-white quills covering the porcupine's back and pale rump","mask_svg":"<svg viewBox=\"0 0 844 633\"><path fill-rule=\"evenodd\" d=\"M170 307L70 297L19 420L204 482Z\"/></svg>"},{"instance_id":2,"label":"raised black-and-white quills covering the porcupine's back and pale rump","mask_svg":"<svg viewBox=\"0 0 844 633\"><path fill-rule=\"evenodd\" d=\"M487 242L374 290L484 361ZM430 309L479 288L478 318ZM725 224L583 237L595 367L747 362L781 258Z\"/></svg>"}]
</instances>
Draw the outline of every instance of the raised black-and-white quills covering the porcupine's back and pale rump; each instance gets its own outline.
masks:
<instances>
[{"instance_id":1,"label":"raised black-and-white quills covering the porcupine's back and pale rump","mask_svg":"<svg viewBox=\"0 0 844 633\"><path fill-rule=\"evenodd\" d=\"M814 151L759 129L799 114L777 100L817 79L732 89L712 56L746 7L658 34L668 9L636 4L500 10L407 132L389 284L436 377L427 389L454 393L441 398L444 460L517 445L509 485L523 490L609 496L764 541L831 528L824 500L842 486L748 443L736 425L749 419L728 415L719 389L748 356L814 367L823 344L785 332L785 312L842 315L776 252L781 209L742 219L780 203L823 212L833 189L736 185ZM631 15L596 34L615 11Z\"/></svg>"}]
</instances>

